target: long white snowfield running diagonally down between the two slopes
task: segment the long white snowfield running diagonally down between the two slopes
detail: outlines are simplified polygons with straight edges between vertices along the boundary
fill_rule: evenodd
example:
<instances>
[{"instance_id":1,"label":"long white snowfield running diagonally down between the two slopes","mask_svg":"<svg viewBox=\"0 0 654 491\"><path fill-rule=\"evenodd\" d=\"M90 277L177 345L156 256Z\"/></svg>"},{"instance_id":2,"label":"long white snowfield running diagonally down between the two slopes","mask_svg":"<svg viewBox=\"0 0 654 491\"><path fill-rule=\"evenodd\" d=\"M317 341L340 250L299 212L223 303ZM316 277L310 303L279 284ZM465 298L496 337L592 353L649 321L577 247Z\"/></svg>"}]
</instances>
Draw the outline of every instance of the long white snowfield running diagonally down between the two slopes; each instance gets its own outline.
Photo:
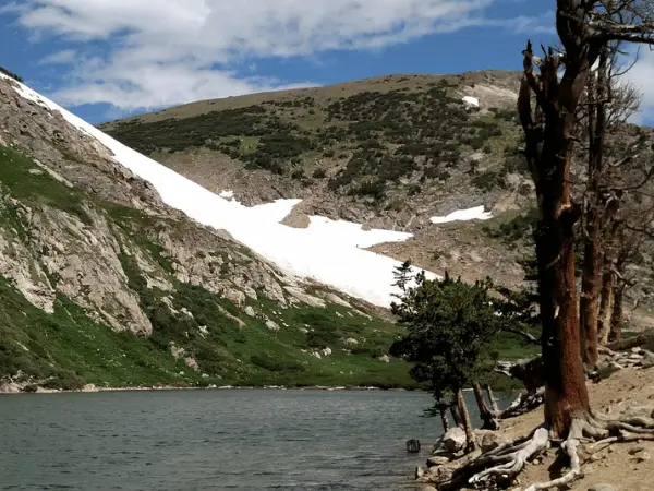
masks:
<instances>
[{"instance_id":1,"label":"long white snowfield running diagonally down between the two slopes","mask_svg":"<svg viewBox=\"0 0 654 491\"><path fill-rule=\"evenodd\" d=\"M9 79L1 73L0 76ZM61 112L69 123L107 146L118 164L150 182L166 204L203 225L227 230L235 240L284 273L311 278L380 307L388 307L392 294L398 292L392 286L393 270L401 263L361 248L405 241L412 237L411 233L378 229L364 231L359 224L320 216L310 217L310 226L304 229L281 225L280 221L301 200L243 206L233 200L233 192L215 194L113 140L27 86L13 79L11 82L22 97L50 111ZM433 273L427 273L427 276L436 277Z\"/></svg>"}]
</instances>

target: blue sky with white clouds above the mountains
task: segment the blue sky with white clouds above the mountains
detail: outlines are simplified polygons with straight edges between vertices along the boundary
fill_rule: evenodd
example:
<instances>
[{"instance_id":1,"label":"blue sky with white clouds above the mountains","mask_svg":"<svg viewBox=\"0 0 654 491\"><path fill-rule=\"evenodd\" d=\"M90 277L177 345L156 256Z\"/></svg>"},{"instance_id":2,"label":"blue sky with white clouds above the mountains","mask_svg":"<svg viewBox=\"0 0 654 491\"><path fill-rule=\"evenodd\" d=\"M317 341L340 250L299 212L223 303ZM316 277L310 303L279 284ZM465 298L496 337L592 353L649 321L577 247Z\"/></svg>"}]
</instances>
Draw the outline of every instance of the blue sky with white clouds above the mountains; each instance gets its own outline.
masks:
<instances>
[{"instance_id":1,"label":"blue sky with white clouds above the mountains","mask_svg":"<svg viewBox=\"0 0 654 491\"><path fill-rule=\"evenodd\" d=\"M397 73L520 70L554 0L0 0L0 65L98 123ZM654 53L628 75L654 123Z\"/></svg>"}]
</instances>

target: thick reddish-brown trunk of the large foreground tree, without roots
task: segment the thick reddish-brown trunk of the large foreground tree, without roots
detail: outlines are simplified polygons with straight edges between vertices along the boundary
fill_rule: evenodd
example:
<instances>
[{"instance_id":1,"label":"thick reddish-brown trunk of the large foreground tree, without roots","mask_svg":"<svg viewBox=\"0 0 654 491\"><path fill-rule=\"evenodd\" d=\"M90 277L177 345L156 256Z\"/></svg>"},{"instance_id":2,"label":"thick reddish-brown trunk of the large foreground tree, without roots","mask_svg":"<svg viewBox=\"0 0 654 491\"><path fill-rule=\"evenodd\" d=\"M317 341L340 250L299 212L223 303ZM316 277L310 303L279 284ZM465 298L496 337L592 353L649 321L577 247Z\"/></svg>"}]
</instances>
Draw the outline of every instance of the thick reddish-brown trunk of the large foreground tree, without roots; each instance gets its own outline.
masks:
<instances>
[{"instance_id":1,"label":"thick reddish-brown trunk of the large foreground tree, without roots","mask_svg":"<svg viewBox=\"0 0 654 491\"><path fill-rule=\"evenodd\" d=\"M558 21L558 20L557 20ZM564 21L569 22L569 20ZM570 197L570 168L576 113L591 65L581 52L566 64L550 53L533 74L531 44L524 51L525 73L518 98L525 133L525 156L536 187L540 219L535 232L538 296L545 373L545 423L554 438L566 438L572 420L590 412L581 359L581 332L574 277L574 224L581 211ZM568 59L568 61L571 61ZM536 92L536 120L531 91Z\"/></svg>"}]
</instances>

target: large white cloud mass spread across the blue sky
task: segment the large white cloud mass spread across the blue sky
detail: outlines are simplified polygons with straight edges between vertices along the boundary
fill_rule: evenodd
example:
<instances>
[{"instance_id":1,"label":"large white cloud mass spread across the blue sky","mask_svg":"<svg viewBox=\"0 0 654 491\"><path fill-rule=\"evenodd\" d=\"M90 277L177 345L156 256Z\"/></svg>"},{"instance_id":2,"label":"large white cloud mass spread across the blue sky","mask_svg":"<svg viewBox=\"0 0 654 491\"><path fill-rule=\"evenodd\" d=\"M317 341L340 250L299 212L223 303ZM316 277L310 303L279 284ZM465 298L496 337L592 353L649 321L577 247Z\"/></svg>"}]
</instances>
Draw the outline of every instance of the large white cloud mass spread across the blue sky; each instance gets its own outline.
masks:
<instances>
[{"instance_id":1,"label":"large white cloud mass spread across the blue sky","mask_svg":"<svg viewBox=\"0 0 654 491\"><path fill-rule=\"evenodd\" d=\"M134 110L286 86L239 77L234 67L245 63L247 73L253 58L379 48L435 32L509 25L485 20L494 1L24 0L16 14L37 35L75 43L76 58L66 50L45 60L75 61L56 99ZM511 25L534 27L522 17ZM97 57L97 43L95 55L85 51L88 40L105 41L109 52Z\"/></svg>"}]
</instances>

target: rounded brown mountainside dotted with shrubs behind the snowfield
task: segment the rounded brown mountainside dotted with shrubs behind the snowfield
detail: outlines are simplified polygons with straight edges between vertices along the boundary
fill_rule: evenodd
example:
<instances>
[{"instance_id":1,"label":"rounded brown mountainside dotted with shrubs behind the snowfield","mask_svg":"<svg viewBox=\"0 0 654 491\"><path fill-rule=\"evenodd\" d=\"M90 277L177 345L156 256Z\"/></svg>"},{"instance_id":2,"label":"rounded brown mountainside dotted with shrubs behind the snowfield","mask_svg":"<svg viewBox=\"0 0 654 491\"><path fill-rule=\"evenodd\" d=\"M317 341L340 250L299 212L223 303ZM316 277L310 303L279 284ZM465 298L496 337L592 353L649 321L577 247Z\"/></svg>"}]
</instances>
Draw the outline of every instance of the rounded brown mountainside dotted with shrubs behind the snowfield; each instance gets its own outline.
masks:
<instances>
[{"instance_id":1,"label":"rounded brown mountainside dotted with shrubs behind the snowfield","mask_svg":"<svg viewBox=\"0 0 654 491\"><path fill-rule=\"evenodd\" d=\"M100 128L242 203L302 199L283 221L291 227L316 214L408 231L412 240L371 249L517 286L534 217L518 153L518 83L510 71L392 75L199 101ZM651 153L650 129L630 127L625 136ZM492 218L431 221L475 206ZM653 325L650 252L635 266L640 283L627 306L642 325Z\"/></svg>"}]
</instances>

